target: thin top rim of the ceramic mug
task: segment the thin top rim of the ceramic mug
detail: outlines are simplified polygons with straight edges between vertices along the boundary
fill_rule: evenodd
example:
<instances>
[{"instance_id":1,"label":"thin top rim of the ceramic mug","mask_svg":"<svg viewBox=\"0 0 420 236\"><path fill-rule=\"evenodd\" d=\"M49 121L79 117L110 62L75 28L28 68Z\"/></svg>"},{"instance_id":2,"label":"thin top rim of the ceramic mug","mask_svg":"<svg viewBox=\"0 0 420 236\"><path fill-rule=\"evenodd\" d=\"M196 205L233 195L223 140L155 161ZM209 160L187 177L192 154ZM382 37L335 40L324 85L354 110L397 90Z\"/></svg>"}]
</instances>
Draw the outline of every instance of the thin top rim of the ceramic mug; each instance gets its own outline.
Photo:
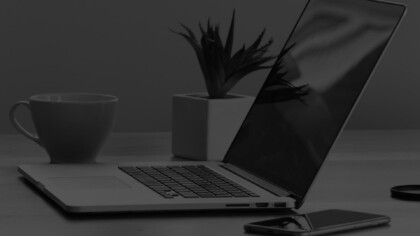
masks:
<instances>
[{"instance_id":1,"label":"thin top rim of the ceramic mug","mask_svg":"<svg viewBox=\"0 0 420 236\"><path fill-rule=\"evenodd\" d=\"M94 96L97 100L48 100L46 97L50 96ZM44 98L42 98L44 97ZM29 97L30 101L34 102L46 102L46 103L106 103L106 102L117 102L119 99L118 97L110 94L104 93L43 93L43 94L35 94Z\"/></svg>"}]
</instances>

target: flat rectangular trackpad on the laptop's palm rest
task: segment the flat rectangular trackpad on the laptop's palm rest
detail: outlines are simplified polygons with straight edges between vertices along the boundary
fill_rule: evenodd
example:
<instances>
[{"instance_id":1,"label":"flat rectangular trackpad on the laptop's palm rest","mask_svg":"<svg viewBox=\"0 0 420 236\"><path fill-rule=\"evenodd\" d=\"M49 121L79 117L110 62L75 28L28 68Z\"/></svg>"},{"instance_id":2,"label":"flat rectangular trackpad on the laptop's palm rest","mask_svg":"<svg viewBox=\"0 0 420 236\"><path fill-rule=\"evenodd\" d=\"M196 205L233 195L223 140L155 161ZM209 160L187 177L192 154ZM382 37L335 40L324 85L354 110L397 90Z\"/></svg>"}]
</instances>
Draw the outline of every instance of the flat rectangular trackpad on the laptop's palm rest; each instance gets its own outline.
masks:
<instances>
[{"instance_id":1,"label":"flat rectangular trackpad on the laptop's palm rest","mask_svg":"<svg viewBox=\"0 0 420 236\"><path fill-rule=\"evenodd\" d=\"M109 189L130 186L114 176L54 177L49 180L59 188L69 189Z\"/></svg>"}]
</instances>

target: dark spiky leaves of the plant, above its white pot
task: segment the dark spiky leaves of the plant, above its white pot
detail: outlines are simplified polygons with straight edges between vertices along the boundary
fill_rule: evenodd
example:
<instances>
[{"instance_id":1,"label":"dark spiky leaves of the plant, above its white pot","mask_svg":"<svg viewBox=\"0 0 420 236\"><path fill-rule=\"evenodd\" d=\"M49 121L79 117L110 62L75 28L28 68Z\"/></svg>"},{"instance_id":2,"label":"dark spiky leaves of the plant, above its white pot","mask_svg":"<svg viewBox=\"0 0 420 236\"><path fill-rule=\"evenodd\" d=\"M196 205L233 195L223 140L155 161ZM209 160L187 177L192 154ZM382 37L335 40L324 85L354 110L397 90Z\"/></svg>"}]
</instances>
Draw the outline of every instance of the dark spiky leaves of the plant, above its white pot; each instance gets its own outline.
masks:
<instances>
[{"instance_id":1,"label":"dark spiky leaves of the plant, above its white pot","mask_svg":"<svg viewBox=\"0 0 420 236\"><path fill-rule=\"evenodd\" d=\"M206 80L206 87L210 98L225 97L243 77L254 71L269 68L268 66L263 66L263 64L275 58L264 56L269 46L273 43L273 40L270 39L266 44L260 46L262 38L265 35L265 29L250 47L244 45L232 56L235 10L232 14L225 45L223 45L220 37L220 26L213 26L210 19L207 21L206 29L199 23L201 32L200 43L191 29L184 25L182 27L187 33L173 32L185 38L194 48L204 79Z\"/></svg>"}]
</instances>

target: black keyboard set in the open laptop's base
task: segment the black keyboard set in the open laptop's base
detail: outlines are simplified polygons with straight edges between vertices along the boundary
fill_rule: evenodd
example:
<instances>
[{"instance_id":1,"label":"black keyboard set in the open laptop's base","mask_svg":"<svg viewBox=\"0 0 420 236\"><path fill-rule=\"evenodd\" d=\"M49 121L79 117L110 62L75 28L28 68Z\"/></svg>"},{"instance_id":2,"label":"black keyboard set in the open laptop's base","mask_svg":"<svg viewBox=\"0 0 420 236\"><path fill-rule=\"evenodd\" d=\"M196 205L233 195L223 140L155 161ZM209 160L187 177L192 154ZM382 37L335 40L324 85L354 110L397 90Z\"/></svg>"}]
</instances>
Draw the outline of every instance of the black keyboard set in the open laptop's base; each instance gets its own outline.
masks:
<instances>
[{"instance_id":1,"label":"black keyboard set in the open laptop's base","mask_svg":"<svg viewBox=\"0 0 420 236\"><path fill-rule=\"evenodd\" d=\"M118 168L164 198L259 197L203 165Z\"/></svg>"}]
</instances>

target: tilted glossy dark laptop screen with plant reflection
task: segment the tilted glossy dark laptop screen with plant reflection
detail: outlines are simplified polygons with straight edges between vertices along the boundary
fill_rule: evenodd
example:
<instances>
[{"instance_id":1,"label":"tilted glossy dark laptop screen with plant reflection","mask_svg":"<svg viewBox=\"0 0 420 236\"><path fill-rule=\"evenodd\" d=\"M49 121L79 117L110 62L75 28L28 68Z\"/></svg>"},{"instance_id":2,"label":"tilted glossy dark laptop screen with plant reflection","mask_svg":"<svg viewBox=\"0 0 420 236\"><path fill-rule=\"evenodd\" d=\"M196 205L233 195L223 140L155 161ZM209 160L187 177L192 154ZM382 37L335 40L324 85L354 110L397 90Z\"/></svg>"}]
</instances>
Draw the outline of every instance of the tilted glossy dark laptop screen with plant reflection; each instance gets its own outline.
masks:
<instances>
[{"instance_id":1,"label":"tilted glossy dark laptop screen with plant reflection","mask_svg":"<svg viewBox=\"0 0 420 236\"><path fill-rule=\"evenodd\" d=\"M302 200L404 11L309 1L224 161Z\"/></svg>"}]
</instances>

